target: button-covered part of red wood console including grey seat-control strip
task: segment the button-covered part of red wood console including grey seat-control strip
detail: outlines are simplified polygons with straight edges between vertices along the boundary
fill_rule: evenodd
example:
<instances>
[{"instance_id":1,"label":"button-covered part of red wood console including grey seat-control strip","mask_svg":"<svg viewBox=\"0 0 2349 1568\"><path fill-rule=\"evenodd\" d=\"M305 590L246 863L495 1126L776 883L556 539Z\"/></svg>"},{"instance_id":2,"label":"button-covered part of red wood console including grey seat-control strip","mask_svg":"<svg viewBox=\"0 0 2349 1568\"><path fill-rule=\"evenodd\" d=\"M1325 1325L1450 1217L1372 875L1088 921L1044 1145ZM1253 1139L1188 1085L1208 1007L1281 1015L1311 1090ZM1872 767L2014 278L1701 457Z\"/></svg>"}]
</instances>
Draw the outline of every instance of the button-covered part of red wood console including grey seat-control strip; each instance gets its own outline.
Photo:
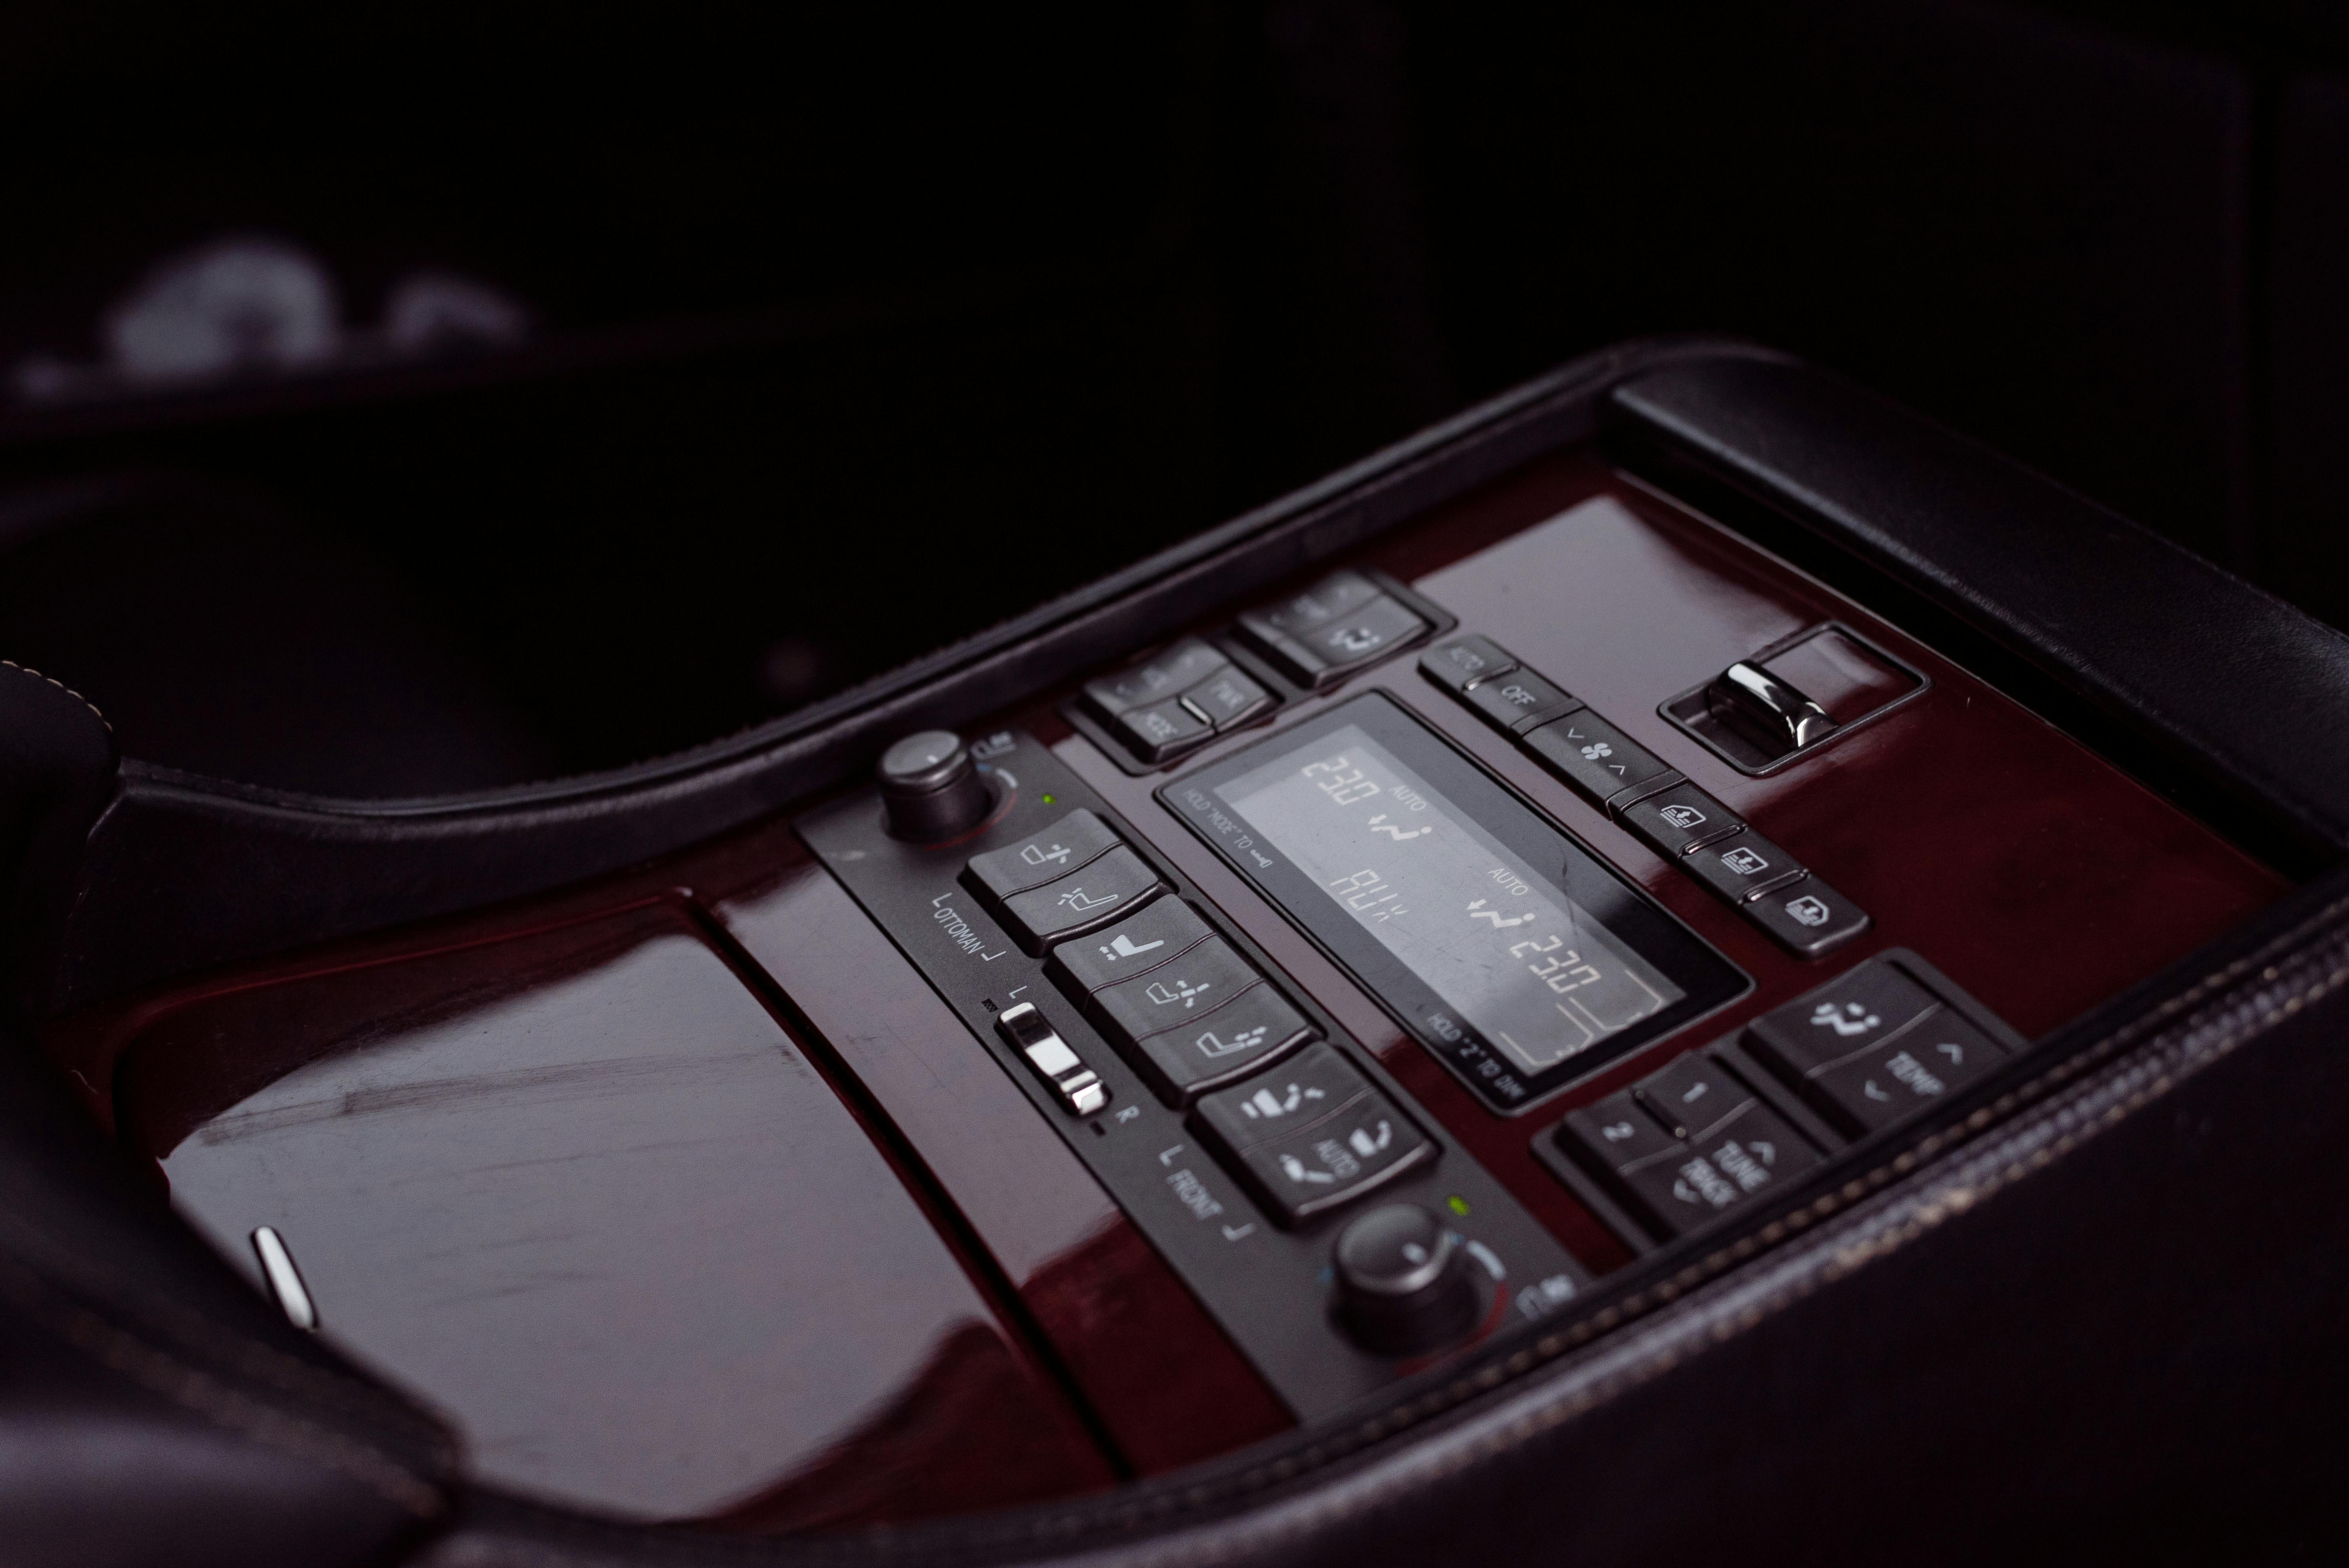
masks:
<instances>
[{"instance_id":1,"label":"button-covered part of red wood console including grey seat-control strip","mask_svg":"<svg viewBox=\"0 0 2349 1568\"><path fill-rule=\"evenodd\" d=\"M1463 533L1499 538L1428 561ZM799 831L1306 1420L1959 1103L2279 890L1579 460L1029 723ZM1388 1228L1431 1253L1400 1340L1346 1263Z\"/></svg>"}]
</instances>

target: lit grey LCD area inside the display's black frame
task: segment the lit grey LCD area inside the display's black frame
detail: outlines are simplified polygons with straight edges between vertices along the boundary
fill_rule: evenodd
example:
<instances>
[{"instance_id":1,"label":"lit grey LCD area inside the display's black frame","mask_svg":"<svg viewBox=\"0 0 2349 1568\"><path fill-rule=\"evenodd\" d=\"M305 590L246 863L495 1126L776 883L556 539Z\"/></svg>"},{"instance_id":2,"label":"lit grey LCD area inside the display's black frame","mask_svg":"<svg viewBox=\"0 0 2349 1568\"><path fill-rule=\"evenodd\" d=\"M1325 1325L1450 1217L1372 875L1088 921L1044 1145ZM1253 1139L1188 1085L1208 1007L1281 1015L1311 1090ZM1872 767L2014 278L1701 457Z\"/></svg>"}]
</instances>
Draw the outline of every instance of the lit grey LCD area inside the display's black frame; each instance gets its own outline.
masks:
<instances>
[{"instance_id":1,"label":"lit grey LCD area inside the display's black frame","mask_svg":"<svg viewBox=\"0 0 2349 1568\"><path fill-rule=\"evenodd\" d=\"M1687 995L1358 725L1214 793L1527 1073Z\"/></svg>"}]
</instances>

